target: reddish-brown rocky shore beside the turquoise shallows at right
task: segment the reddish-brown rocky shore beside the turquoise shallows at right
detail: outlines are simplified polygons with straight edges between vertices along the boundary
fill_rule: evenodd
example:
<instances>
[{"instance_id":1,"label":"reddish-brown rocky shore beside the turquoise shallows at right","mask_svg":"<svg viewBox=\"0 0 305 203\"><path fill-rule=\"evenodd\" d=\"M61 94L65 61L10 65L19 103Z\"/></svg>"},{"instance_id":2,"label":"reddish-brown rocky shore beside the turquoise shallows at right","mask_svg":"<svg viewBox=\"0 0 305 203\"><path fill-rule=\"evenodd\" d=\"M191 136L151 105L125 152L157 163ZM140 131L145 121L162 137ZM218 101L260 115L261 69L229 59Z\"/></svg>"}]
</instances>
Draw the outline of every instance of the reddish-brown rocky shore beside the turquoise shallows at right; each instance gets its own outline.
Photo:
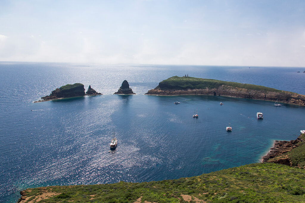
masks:
<instances>
[{"instance_id":1,"label":"reddish-brown rocky shore beside the turquoise shallows at right","mask_svg":"<svg viewBox=\"0 0 305 203\"><path fill-rule=\"evenodd\" d=\"M304 142L301 136L302 134L295 140L291 140L291 141L278 141L278 140L274 141L274 146L270 148L270 151L267 153L267 155L262 157L262 162L280 163L280 164L292 166L289 157L285 156L285 153L290 152L292 149L296 148L299 142ZM273 159L274 157L278 157L281 155L284 155L284 157L270 160Z\"/></svg>"}]
</instances>

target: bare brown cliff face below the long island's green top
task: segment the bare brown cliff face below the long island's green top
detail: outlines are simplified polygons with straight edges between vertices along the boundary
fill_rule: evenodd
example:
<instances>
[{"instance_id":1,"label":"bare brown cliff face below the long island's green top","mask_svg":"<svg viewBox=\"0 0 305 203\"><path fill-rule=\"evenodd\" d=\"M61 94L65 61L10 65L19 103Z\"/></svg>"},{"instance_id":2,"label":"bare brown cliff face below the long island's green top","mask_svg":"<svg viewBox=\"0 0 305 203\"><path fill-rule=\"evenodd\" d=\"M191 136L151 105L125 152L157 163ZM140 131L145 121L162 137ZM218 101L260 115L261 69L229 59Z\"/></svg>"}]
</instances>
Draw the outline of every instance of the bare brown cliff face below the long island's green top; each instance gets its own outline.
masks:
<instances>
[{"instance_id":1,"label":"bare brown cliff face below the long island's green top","mask_svg":"<svg viewBox=\"0 0 305 203\"><path fill-rule=\"evenodd\" d=\"M257 99L257 100L268 100L276 101L282 103L292 103L301 106L305 106L305 95L300 95L291 92L270 92L265 90L253 90L253 89L243 89L231 86L222 85L218 88L213 89L160 89L156 87L155 89L149 90L147 95L214 95L214 96L230 96L237 98L246 99Z\"/></svg>"}]
</instances>

